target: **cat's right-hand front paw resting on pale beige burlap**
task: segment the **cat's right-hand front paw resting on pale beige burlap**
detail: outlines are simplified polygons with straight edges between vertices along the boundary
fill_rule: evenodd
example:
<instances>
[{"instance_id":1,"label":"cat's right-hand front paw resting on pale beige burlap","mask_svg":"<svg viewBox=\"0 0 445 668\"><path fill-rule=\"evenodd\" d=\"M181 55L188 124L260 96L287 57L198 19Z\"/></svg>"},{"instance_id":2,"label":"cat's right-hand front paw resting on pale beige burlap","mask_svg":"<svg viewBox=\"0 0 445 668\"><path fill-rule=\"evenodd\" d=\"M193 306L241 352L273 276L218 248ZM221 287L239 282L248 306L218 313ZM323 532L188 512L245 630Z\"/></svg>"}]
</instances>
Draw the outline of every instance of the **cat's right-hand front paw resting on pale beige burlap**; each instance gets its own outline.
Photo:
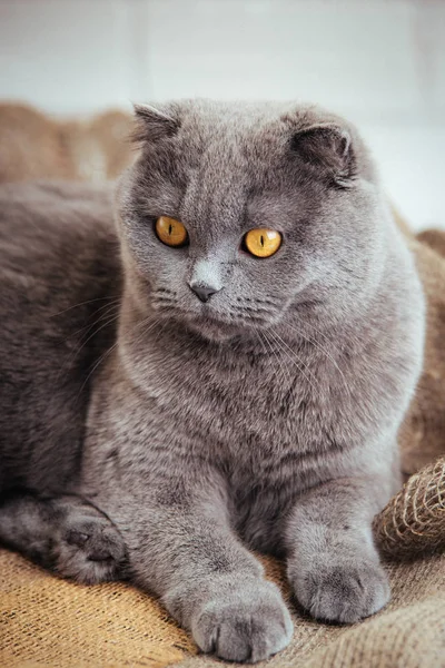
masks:
<instances>
[{"instance_id":1,"label":"cat's right-hand front paw resting on pale beige burlap","mask_svg":"<svg viewBox=\"0 0 445 668\"><path fill-rule=\"evenodd\" d=\"M293 569L294 570L294 569ZM390 590L382 567L373 561L295 566L289 572L295 595L316 619L353 623L380 610Z\"/></svg>"}]
</instances>

